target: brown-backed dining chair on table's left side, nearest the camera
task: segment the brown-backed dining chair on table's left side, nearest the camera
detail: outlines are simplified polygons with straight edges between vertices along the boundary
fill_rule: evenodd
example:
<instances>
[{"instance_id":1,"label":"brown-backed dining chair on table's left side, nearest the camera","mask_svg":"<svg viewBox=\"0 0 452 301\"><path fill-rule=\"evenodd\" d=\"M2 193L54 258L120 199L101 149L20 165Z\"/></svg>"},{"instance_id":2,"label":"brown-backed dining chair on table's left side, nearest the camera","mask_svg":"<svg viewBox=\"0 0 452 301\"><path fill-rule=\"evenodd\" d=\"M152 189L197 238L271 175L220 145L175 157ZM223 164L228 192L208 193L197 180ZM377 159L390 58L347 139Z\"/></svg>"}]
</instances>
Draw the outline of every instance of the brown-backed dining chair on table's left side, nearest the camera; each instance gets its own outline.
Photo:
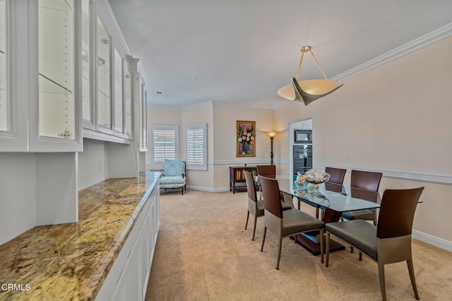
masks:
<instances>
[{"instance_id":1,"label":"brown-backed dining chair on table's left side, nearest the camera","mask_svg":"<svg viewBox=\"0 0 452 301\"><path fill-rule=\"evenodd\" d=\"M321 262L323 263L323 221L310 216L307 213L291 208L283 211L280 201L280 189L276 179L268 177L259 177L263 191L263 237L261 252L263 252L263 244L266 240L267 229L274 235L278 236L278 257L276 261L276 269L280 268L281 247L283 244L283 237L295 235L295 242L297 241L297 234L307 231L320 231L320 249Z\"/></svg>"}]
</instances>

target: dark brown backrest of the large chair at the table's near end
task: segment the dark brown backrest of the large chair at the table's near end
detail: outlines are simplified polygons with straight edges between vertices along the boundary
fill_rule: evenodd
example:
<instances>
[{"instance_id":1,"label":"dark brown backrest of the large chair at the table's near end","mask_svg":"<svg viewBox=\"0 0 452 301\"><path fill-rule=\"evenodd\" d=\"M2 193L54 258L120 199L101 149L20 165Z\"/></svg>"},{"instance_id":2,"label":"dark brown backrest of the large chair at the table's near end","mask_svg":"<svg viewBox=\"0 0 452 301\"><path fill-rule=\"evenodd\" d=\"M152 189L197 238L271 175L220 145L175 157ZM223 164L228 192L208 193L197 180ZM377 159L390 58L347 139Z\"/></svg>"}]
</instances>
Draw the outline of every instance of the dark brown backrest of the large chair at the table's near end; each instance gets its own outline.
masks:
<instances>
[{"instance_id":1,"label":"dark brown backrest of the large chair at the table's near end","mask_svg":"<svg viewBox=\"0 0 452 301\"><path fill-rule=\"evenodd\" d=\"M386 189L381 199L376 237L391 238L410 235L417 201L424 187L414 189Z\"/></svg>"}]
</instances>

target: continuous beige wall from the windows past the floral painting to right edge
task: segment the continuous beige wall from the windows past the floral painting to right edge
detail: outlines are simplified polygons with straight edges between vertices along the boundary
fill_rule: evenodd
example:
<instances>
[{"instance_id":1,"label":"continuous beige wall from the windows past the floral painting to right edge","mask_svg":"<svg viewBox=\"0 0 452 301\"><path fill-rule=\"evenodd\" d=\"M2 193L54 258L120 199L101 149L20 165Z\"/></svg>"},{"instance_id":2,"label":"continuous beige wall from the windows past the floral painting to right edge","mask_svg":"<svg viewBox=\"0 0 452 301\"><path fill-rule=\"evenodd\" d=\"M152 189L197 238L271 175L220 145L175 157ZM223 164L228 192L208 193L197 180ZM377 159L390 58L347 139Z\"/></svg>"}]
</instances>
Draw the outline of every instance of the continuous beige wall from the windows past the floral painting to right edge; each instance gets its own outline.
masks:
<instances>
[{"instance_id":1,"label":"continuous beige wall from the windows past the floral painting to right edge","mask_svg":"<svg viewBox=\"0 0 452 301\"><path fill-rule=\"evenodd\" d=\"M350 78L335 93L309 106L287 102L268 110L215 105L211 115L203 110L199 114L159 110L150 112L149 124L183 124L194 119L212 122L208 138L213 147L209 142L208 160L213 165L208 172L196 173L196 185L219 191L229 186L228 166L269 160L270 143L263 132L256 135L255 158L236 157L237 120L255 120L257 129L281 131L275 137L275 161L285 163L277 164L278 173L288 175L288 125L312 118L314 165L395 172L395 178L383 177L380 191L424 186L424 203L417 208L414 228L420 235L439 237L450 244L452 185L417 182L403 175L442 175L450 182L451 53L452 38L436 42ZM349 181L347 174L345 183Z\"/></svg>"}]
</instances>

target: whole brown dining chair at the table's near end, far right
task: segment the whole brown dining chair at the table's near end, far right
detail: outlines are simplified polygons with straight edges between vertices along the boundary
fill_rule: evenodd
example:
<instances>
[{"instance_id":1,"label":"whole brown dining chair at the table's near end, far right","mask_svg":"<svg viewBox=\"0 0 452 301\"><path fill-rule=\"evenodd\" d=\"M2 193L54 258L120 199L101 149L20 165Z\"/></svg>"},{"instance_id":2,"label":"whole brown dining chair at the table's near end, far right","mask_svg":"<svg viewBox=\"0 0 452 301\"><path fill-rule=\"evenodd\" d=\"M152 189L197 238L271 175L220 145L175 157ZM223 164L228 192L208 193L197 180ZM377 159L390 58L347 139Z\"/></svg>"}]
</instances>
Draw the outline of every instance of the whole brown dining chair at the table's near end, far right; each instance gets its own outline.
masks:
<instances>
[{"instance_id":1,"label":"whole brown dining chair at the table's near end, far right","mask_svg":"<svg viewBox=\"0 0 452 301\"><path fill-rule=\"evenodd\" d=\"M327 223L325 225L326 267L329 264L330 236L333 234L376 261L383 301L386 300L384 265L407 261L411 285L416 299L419 300L412 264L411 233L417 201L423 190L424 187L386 189L381 199L377 225L372 225L365 220Z\"/></svg>"}]
</instances>

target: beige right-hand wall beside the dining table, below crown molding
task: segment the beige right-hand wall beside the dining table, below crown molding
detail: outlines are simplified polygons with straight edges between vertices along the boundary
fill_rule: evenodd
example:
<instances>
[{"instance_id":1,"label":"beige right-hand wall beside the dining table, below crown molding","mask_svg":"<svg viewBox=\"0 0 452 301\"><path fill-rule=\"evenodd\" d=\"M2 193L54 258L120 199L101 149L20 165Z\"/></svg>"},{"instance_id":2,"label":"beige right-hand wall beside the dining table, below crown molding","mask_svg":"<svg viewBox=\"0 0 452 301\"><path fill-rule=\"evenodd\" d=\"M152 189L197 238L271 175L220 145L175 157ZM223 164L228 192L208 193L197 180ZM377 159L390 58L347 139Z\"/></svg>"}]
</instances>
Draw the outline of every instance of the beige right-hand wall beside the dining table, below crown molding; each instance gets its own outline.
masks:
<instances>
[{"instance_id":1,"label":"beige right-hand wall beside the dining table, below crown molding","mask_svg":"<svg viewBox=\"0 0 452 301\"><path fill-rule=\"evenodd\" d=\"M276 126L287 129L291 122L313 118L314 165L450 179L451 53L452 38L419 49L350 78L307 107L294 102L276 109ZM278 155L286 159L289 141L284 135L279 138ZM380 191L419 186L426 189L415 230L452 241L452 185L383 177Z\"/></svg>"}]
</instances>

